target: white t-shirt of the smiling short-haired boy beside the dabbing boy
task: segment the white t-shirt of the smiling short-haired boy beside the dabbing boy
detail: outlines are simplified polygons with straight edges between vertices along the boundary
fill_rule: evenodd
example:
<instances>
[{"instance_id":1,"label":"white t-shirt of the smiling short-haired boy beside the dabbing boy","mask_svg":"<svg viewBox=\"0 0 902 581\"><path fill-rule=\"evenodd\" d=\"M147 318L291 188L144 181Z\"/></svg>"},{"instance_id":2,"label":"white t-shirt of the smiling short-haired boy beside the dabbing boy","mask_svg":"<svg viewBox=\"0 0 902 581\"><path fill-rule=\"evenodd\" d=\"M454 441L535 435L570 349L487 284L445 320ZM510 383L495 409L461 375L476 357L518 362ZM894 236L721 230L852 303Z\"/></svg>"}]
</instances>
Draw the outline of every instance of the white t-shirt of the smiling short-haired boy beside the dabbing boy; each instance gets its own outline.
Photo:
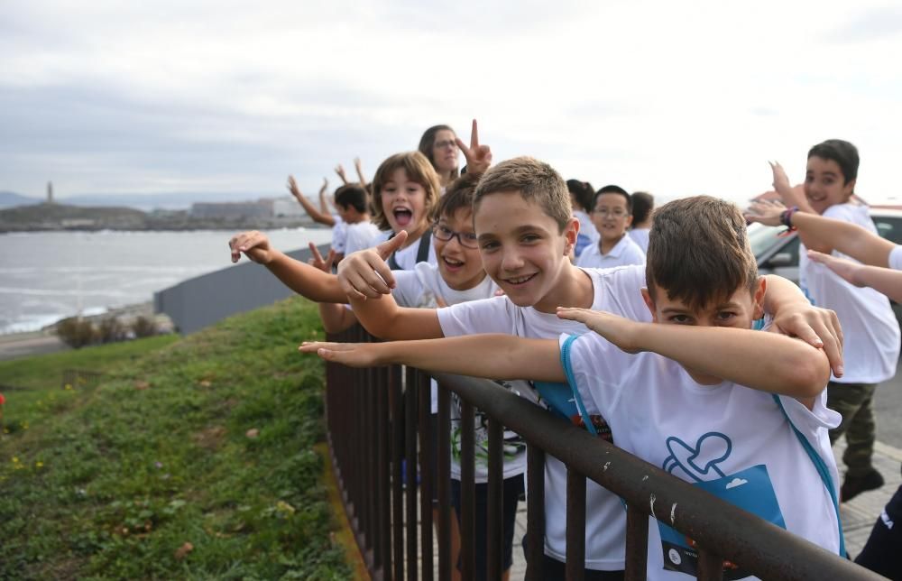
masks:
<instances>
[{"instance_id":1,"label":"white t-shirt of the smiling short-haired boy beside the dabbing boy","mask_svg":"<svg viewBox=\"0 0 902 581\"><path fill-rule=\"evenodd\" d=\"M650 321L642 300L645 269L641 266L584 271L594 288L592 309L622 317ZM438 309L445 337L478 333L507 333L519 337L557 339L561 333L584 333L582 323L557 318L531 307L518 307L507 297L477 300ZM614 435L616 438L616 434ZM620 499L598 484L585 484L585 567L603 570L623 568L626 513ZM548 456L545 462L545 553L566 561L566 466Z\"/></svg>"}]
</instances>

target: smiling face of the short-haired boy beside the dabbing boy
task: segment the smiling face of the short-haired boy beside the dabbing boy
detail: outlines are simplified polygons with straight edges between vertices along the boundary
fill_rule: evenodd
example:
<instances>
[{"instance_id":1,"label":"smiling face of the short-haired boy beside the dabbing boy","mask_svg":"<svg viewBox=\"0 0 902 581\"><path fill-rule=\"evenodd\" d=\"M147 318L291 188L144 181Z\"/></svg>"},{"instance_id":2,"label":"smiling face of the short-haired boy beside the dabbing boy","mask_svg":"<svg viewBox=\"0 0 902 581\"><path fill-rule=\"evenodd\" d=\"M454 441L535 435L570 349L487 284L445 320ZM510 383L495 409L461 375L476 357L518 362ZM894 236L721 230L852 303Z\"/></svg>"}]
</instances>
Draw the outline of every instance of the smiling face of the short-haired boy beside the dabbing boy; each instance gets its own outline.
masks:
<instances>
[{"instance_id":1,"label":"smiling face of the short-haired boy beside the dabbing boy","mask_svg":"<svg viewBox=\"0 0 902 581\"><path fill-rule=\"evenodd\" d=\"M573 222L560 233L553 217L516 191L480 201L474 225L483 268L515 305L555 312L555 283L575 244Z\"/></svg>"}]
</instances>

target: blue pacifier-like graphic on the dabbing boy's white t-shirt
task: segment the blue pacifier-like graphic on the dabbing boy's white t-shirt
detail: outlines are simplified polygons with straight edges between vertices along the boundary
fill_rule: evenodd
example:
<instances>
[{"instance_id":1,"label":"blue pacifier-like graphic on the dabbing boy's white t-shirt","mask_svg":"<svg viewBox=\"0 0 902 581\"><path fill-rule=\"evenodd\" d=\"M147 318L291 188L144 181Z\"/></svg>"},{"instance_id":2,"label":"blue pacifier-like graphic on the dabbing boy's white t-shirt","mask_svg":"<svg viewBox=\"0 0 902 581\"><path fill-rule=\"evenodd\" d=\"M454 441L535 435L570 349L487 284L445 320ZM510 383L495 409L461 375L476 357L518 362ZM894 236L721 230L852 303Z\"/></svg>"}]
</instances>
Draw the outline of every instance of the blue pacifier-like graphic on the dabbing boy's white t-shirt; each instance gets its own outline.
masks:
<instances>
[{"instance_id":1,"label":"blue pacifier-like graphic on the dabbing boy's white t-shirt","mask_svg":"<svg viewBox=\"0 0 902 581\"><path fill-rule=\"evenodd\" d=\"M777 502L767 466L759 464L727 475L723 463L732 452L732 440L720 432L708 432L694 444L675 437L665 443L670 455L661 467L678 478L698 486L744 511L786 529L783 513ZM661 549L664 552L664 568L687 575L698 574L698 552L695 540L658 521ZM741 579L750 576L729 561L723 563L724 579Z\"/></svg>"}]
</instances>

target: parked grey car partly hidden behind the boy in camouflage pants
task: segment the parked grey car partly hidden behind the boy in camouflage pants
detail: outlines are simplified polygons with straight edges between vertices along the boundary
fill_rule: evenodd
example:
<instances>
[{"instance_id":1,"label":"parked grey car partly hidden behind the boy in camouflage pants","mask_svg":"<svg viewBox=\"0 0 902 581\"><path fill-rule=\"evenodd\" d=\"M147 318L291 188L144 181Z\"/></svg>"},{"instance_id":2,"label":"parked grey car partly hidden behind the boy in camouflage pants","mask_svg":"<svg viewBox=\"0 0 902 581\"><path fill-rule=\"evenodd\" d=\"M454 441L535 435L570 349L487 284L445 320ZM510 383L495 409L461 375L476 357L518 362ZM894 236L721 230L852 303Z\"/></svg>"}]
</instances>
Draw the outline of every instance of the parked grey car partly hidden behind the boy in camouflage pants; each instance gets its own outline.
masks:
<instances>
[{"instance_id":1,"label":"parked grey car partly hidden behind the boy in camouflage pants","mask_svg":"<svg viewBox=\"0 0 902 581\"><path fill-rule=\"evenodd\" d=\"M871 208L870 217L879 235L902 244L902 210ZM750 225L751 251L761 274L778 274L798 284L798 233L783 235L785 230L785 226ZM894 302L893 310L902 325L902 306Z\"/></svg>"}]
</instances>

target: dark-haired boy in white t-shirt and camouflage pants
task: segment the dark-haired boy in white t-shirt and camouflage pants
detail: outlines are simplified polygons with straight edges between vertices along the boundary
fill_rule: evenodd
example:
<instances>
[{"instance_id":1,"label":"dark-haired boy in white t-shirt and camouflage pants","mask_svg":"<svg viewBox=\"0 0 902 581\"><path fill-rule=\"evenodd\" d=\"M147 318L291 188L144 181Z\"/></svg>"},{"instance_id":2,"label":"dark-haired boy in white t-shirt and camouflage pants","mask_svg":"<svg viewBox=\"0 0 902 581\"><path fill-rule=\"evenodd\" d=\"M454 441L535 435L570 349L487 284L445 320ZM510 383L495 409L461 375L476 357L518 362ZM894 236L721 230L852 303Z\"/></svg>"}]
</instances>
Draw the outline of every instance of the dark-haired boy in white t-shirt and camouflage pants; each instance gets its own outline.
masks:
<instances>
[{"instance_id":1,"label":"dark-haired boy in white t-shirt and camouflage pants","mask_svg":"<svg viewBox=\"0 0 902 581\"><path fill-rule=\"evenodd\" d=\"M774 189L789 207L787 226L796 212L810 212L851 222L877 234L868 207L853 198L858 178L858 150L849 142L830 139L808 152L805 167L805 195L789 185L786 171L772 164ZM843 257L833 241L800 229L805 248ZM896 374L899 358L899 326L889 300L873 289L857 288L823 264L810 261L799 252L799 284L812 302L836 311L845 343L845 374L834 377L828 386L828 406L842 414L842 423L830 433L835 442L843 435L847 447L842 461L848 467L842 482L842 501L883 485L883 476L871 464L876 423L873 397L877 385Z\"/></svg>"}]
</instances>

